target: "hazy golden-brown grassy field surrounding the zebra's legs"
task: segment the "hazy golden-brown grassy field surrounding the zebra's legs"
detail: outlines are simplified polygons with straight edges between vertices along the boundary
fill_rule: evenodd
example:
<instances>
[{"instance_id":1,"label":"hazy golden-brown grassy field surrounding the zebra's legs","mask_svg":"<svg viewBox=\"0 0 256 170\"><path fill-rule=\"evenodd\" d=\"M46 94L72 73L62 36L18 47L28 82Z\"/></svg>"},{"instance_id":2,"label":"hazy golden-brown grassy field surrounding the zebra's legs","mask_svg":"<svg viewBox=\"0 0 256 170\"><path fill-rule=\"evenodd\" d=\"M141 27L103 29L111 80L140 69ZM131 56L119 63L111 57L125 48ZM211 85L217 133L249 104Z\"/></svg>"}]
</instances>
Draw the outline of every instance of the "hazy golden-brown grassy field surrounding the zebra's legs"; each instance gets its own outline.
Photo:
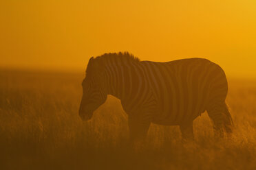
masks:
<instances>
[{"instance_id":1,"label":"hazy golden-brown grassy field surrounding the zebra's legs","mask_svg":"<svg viewBox=\"0 0 256 170\"><path fill-rule=\"evenodd\" d=\"M83 76L0 71L0 169L256 169L256 81L228 80L231 138L216 141L204 113L194 143L182 145L178 127L151 125L134 153L118 99L92 121L78 117Z\"/></svg>"}]
</instances>

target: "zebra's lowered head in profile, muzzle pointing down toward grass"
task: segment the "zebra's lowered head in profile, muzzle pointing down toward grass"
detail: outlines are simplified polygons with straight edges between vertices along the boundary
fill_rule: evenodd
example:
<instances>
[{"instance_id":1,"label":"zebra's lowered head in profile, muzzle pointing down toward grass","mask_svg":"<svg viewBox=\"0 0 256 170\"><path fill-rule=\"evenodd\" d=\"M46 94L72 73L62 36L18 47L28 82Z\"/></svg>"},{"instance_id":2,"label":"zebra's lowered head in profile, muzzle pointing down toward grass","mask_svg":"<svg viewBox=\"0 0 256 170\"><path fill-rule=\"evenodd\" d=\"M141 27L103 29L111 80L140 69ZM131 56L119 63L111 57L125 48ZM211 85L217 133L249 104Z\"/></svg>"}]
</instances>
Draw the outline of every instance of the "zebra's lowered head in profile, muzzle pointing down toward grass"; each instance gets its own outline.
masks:
<instances>
[{"instance_id":1,"label":"zebra's lowered head in profile, muzzle pointing down toward grass","mask_svg":"<svg viewBox=\"0 0 256 170\"><path fill-rule=\"evenodd\" d=\"M94 111L104 104L107 99L103 66L97 58L90 58L82 86L83 97L79 115L83 121L87 121L92 118Z\"/></svg>"}]
</instances>

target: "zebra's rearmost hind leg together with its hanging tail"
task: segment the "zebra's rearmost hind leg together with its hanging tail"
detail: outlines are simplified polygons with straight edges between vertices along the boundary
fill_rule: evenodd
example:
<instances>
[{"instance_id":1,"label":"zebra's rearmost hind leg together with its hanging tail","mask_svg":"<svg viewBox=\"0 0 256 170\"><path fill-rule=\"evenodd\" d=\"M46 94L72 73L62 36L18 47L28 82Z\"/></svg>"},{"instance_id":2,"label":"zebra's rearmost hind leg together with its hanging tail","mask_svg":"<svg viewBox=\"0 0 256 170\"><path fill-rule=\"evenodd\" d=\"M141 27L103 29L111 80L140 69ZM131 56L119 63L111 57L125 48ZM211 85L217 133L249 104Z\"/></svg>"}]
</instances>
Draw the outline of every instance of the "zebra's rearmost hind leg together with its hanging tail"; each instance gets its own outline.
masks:
<instances>
[{"instance_id":1,"label":"zebra's rearmost hind leg together with its hanging tail","mask_svg":"<svg viewBox=\"0 0 256 170\"><path fill-rule=\"evenodd\" d=\"M233 121L225 102L212 104L206 110L213 121L213 130L216 137L223 137L224 132L232 132Z\"/></svg>"}]
</instances>

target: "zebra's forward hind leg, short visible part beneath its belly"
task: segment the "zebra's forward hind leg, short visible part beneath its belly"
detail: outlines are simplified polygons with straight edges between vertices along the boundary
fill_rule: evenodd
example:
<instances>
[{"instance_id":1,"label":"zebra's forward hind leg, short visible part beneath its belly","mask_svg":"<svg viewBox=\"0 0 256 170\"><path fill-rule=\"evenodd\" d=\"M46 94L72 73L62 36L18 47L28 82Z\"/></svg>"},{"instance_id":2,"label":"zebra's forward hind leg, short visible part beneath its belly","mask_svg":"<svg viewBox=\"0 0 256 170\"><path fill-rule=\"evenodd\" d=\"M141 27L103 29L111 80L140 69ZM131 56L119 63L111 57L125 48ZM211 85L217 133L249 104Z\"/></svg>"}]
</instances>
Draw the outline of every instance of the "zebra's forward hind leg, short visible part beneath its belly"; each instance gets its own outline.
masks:
<instances>
[{"instance_id":1,"label":"zebra's forward hind leg, short visible part beneath its belly","mask_svg":"<svg viewBox=\"0 0 256 170\"><path fill-rule=\"evenodd\" d=\"M187 123L182 123L180 125L180 131L182 132L182 141L193 141L194 133L193 133L193 121L189 121Z\"/></svg>"}]
</instances>

